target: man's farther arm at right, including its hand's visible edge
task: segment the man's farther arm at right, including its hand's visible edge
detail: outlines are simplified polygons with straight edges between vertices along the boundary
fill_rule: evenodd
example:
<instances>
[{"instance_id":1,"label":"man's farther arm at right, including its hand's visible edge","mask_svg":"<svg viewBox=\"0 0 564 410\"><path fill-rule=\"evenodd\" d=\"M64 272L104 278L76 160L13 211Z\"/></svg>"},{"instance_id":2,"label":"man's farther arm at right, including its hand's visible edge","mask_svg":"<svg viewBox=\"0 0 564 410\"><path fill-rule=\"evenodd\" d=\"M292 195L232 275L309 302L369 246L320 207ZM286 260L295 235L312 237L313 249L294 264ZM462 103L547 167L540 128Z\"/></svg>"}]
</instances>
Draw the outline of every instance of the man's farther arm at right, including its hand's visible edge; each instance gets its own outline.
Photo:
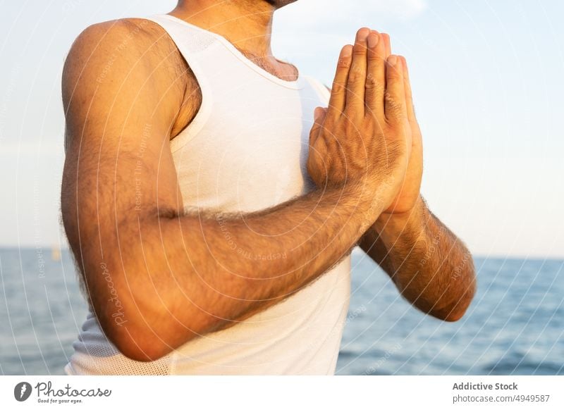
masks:
<instances>
[{"instance_id":1,"label":"man's farther arm at right, including its hand's visible edge","mask_svg":"<svg viewBox=\"0 0 564 410\"><path fill-rule=\"evenodd\" d=\"M391 54L390 37L385 33L379 37L378 52L385 59ZM360 247L390 275L403 297L414 306L444 321L457 321L476 292L474 263L465 244L429 211L419 194L423 142L415 118L407 61L401 58L411 155L396 201L368 228Z\"/></svg>"}]
</instances>

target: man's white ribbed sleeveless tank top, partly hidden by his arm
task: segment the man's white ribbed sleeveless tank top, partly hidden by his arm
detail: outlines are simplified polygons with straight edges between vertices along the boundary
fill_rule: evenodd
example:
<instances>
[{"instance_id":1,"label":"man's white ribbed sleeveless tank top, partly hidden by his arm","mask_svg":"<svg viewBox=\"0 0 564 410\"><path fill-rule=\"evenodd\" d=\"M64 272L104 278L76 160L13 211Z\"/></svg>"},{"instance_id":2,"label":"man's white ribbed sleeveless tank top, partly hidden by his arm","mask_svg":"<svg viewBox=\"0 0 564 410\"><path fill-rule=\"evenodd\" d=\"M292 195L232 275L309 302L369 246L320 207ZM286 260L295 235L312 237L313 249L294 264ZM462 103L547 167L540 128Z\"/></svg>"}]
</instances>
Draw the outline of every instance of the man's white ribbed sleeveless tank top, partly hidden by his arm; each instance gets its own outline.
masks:
<instances>
[{"instance_id":1,"label":"man's white ribbed sleeveless tank top, partly hidden by his arm","mask_svg":"<svg viewBox=\"0 0 564 410\"><path fill-rule=\"evenodd\" d=\"M305 166L309 129L314 108L328 104L327 89L301 74L295 81L281 80L224 37L178 18L157 15L149 20L168 32L202 90L200 111L171 140L186 209L257 211L312 190ZM239 246L236 238L233 246ZM91 312L65 371L333 374L349 297L350 256L266 311L147 363L123 356Z\"/></svg>"}]
</instances>

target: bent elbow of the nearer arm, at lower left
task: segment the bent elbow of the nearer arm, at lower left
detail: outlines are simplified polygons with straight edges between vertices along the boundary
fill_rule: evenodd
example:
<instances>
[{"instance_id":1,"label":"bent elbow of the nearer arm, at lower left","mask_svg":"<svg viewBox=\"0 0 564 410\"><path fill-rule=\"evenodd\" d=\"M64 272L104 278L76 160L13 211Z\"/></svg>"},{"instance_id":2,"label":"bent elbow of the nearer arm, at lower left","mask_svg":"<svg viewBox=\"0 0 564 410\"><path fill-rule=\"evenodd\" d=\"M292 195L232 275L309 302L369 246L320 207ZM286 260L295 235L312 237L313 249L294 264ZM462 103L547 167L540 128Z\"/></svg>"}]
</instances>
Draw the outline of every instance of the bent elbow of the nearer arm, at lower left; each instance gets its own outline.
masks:
<instances>
[{"instance_id":1,"label":"bent elbow of the nearer arm, at lower left","mask_svg":"<svg viewBox=\"0 0 564 410\"><path fill-rule=\"evenodd\" d=\"M128 359L156 361L213 328L219 319L186 300L176 287L159 285L134 262L109 261L91 294L106 338ZM157 268L154 268L157 271ZM135 272L128 278L127 272ZM145 273L145 275L144 275Z\"/></svg>"}]
</instances>

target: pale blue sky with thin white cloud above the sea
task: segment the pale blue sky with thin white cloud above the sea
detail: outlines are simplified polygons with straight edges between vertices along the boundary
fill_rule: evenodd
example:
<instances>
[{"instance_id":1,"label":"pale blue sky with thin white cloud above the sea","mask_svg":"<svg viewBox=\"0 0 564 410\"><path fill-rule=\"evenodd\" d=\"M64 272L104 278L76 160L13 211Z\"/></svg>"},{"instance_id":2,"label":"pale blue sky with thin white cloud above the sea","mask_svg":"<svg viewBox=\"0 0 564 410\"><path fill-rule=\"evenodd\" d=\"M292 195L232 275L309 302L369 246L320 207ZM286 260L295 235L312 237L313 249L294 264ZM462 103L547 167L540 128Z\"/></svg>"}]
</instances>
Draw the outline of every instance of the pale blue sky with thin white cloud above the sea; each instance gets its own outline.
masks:
<instances>
[{"instance_id":1,"label":"pale blue sky with thin white cloud above the sea","mask_svg":"<svg viewBox=\"0 0 564 410\"><path fill-rule=\"evenodd\" d=\"M0 0L0 247L66 247L60 85L75 37L175 4ZM299 0L276 12L272 48L330 85L358 28L388 32L410 66L431 211L479 256L563 258L563 15L558 0Z\"/></svg>"}]
</instances>

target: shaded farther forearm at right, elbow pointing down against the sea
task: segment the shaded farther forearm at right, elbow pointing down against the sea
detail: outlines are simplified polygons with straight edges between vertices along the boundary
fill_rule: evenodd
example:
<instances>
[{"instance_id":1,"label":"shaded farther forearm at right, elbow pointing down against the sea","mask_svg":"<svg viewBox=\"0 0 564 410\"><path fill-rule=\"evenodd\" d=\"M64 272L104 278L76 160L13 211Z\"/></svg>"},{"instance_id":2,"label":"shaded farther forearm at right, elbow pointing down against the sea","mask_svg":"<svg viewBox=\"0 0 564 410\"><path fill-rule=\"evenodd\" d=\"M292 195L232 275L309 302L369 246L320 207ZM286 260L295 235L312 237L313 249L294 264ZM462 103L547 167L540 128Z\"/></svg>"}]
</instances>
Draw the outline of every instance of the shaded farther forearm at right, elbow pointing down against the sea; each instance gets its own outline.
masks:
<instances>
[{"instance_id":1,"label":"shaded farther forearm at right, elbow pointing down against the sea","mask_svg":"<svg viewBox=\"0 0 564 410\"><path fill-rule=\"evenodd\" d=\"M405 214L382 214L362 238L364 251L418 309L455 321L474 295L472 255L422 198Z\"/></svg>"}]
</instances>

